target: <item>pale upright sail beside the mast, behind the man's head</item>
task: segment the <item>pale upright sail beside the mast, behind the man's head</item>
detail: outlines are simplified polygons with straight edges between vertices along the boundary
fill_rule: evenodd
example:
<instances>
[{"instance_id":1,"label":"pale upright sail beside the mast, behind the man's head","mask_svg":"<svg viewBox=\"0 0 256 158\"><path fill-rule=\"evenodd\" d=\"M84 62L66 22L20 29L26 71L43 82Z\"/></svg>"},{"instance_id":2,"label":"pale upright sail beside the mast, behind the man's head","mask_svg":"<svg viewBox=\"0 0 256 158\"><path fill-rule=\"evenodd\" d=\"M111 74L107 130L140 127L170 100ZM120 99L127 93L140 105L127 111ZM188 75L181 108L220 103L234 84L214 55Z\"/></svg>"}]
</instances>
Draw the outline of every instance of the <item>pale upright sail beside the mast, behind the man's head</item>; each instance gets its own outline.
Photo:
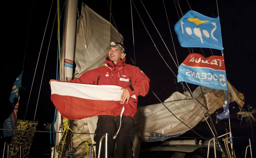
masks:
<instances>
[{"instance_id":1,"label":"pale upright sail beside the mast, behind the man's head","mask_svg":"<svg viewBox=\"0 0 256 158\"><path fill-rule=\"evenodd\" d=\"M75 78L104 64L111 41L122 43L123 36L106 19L84 3L77 20Z\"/></svg>"}]
</instances>

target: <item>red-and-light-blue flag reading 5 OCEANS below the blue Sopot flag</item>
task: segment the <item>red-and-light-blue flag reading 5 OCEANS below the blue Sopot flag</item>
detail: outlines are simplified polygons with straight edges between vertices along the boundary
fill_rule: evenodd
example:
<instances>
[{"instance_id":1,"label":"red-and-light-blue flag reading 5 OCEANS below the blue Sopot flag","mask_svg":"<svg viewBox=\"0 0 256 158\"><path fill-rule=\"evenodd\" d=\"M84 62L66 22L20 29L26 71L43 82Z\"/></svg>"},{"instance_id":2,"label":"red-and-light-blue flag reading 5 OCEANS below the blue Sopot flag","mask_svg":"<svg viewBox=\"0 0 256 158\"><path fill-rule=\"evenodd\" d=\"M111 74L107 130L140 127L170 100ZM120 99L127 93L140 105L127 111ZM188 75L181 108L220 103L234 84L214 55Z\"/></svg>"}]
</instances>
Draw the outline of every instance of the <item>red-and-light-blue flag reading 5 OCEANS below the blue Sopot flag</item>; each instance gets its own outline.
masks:
<instances>
[{"instance_id":1,"label":"red-and-light-blue flag reading 5 OCEANS below the blue Sopot flag","mask_svg":"<svg viewBox=\"0 0 256 158\"><path fill-rule=\"evenodd\" d=\"M178 82L184 81L204 87L228 90L224 56L189 54L178 70Z\"/></svg>"}]
</instances>

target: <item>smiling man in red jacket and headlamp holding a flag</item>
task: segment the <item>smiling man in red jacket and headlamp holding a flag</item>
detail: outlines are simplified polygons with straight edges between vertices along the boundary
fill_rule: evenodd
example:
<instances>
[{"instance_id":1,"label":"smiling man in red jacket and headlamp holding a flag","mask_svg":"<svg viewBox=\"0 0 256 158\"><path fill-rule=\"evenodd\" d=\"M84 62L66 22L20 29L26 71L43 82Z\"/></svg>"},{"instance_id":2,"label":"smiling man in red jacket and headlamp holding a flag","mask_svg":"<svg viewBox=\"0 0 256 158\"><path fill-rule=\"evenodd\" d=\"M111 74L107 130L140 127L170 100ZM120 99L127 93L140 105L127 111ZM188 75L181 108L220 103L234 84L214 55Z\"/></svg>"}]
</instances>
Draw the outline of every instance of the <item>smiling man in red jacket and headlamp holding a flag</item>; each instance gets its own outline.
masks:
<instances>
[{"instance_id":1,"label":"smiling man in red jacket and headlamp holding a flag","mask_svg":"<svg viewBox=\"0 0 256 158\"><path fill-rule=\"evenodd\" d=\"M56 81L56 80L50 80ZM99 150L98 143L102 134L109 133L108 156L131 158L132 141L134 135L134 115L137 111L138 96L148 94L149 79L140 68L125 64L124 47L121 43L111 42L106 57L105 64L99 68L86 71L80 78L72 83L84 83L95 85L117 85L123 87L121 103L123 104L123 116L116 111L110 111L106 115L100 115L94 140L96 141L96 151ZM120 128L120 130L119 130ZM112 138L117 131L116 139ZM130 135L130 136L123 136ZM100 157L105 153L104 147L101 148Z\"/></svg>"}]
</instances>

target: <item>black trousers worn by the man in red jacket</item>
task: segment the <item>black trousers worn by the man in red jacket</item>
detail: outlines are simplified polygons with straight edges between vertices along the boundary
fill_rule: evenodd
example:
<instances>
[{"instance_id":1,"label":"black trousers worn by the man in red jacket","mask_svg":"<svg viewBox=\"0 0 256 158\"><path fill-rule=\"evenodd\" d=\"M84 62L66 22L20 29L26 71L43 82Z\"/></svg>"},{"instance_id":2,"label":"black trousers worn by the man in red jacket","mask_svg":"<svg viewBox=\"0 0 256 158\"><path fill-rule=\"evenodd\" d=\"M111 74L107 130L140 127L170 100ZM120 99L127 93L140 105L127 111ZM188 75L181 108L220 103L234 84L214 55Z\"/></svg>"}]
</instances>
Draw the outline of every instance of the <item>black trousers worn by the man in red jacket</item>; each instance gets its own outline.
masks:
<instances>
[{"instance_id":1,"label":"black trousers worn by the man in red jacket","mask_svg":"<svg viewBox=\"0 0 256 158\"><path fill-rule=\"evenodd\" d=\"M120 125L120 116L100 115L95 130L96 154L103 134L108 133L108 158L132 158L132 141L134 135L133 118L122 116L121 127L116 139L113 139ZM125 135L125 136L123 136ZM102 141L100 158L105 157L105 139Z\"/></svg>"}]
</instances>

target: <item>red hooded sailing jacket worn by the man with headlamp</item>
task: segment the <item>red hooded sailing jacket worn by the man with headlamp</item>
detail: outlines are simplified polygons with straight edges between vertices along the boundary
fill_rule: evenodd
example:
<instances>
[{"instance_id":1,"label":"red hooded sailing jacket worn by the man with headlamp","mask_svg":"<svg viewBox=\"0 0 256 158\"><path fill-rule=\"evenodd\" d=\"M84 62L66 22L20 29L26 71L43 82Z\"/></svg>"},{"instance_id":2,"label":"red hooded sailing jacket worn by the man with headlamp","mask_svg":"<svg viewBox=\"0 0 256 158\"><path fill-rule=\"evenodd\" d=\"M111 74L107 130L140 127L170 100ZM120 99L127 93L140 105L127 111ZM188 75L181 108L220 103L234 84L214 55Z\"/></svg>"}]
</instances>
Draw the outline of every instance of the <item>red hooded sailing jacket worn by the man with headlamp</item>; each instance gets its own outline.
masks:
<instances>
[{"instance_id":1,"label":"red hooded sailing jacket worn by the man with headlamp","mask_svg":"<svg viewBox=\"0 0 256 158\"><path fill-rule=\"evenodd\" d=\"M125 64L125 57L121 61L118 61L116 65L108 59L109 58L107 57L105 65L86 71L80 78L65 82L117 85L127 88L131 97L128 104L126 104L126 102L124 103L125 110L123 115L134 118L137 111L138 96L146 96L148 94L149 78L140 70L140 68ZM118 116L120 115L120 111L111 111L105 115Z\"/></svg>"}]
</instances>

